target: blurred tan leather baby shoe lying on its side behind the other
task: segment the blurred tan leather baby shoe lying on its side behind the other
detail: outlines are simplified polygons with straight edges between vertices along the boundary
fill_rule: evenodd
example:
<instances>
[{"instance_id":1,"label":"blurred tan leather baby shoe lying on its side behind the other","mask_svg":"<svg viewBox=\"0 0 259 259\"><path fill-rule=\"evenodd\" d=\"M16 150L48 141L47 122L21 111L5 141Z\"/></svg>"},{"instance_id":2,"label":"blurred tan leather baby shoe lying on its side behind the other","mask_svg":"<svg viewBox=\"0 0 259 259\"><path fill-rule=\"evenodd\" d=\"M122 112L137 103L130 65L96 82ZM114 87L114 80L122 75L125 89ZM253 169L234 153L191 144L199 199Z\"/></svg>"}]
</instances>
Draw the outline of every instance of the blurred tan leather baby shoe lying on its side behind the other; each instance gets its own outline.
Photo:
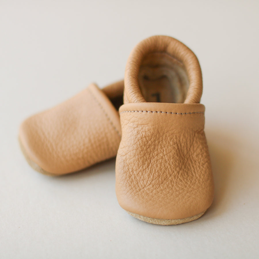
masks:
<instances>
[{"instance_id":1,"label":"blurred tan leather baby shoe lying on its side behind the other","mask_svg":"<svg viewBox=\"0 0 259 259\"><path fill-rule=\"evenodd\" d=\"M124 82L91 84L62 104L26 119L20 146L28 163L47 175L82 170L115 157L121 140Z\"/></svg>"}]
</instances>

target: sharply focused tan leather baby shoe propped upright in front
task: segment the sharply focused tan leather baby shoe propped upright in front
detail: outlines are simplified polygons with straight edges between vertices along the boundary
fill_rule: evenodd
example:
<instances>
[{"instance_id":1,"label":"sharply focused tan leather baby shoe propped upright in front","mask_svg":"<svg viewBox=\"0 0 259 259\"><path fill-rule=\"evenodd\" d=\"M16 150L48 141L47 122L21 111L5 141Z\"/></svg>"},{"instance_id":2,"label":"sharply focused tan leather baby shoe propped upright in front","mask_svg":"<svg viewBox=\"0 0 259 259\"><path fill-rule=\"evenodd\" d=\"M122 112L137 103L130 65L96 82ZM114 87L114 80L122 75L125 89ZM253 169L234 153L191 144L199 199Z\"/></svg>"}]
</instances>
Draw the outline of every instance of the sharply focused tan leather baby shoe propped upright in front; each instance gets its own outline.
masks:
<instances>
[{"instance_id":1,"label":"sharply focused tan leather baby shoe propped upright in front","mask_svg":"<svg viewBox=\"0 0 259 259\"><path fill-rule=\"evenodd\" d=\"M116 159L117 199L130 215L180 224L211 205L214 184L201 94L199 62L183 43L154 36L131 52Z\"/></svg>"}]
</instances>

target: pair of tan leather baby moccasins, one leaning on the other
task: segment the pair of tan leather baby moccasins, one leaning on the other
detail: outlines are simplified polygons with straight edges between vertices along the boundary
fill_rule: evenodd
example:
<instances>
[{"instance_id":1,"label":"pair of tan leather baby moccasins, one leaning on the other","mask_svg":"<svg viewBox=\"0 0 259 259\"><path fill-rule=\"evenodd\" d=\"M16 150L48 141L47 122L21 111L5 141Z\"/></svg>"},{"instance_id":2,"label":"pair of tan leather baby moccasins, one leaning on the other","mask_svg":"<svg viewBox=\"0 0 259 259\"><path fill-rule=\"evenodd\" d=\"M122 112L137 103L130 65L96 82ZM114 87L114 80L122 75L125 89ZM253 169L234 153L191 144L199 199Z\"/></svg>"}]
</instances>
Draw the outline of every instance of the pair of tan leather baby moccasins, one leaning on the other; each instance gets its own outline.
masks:
<instances>
[{"instance_id":1,"label":"pair of tan leather baby moccasins, one leaning on the other","mask_svg":"<svg viewBox=\"0 0 259 259\"><path fill-rule=\"evenodd\" d=\"M200 104L195 54L167 36L132 50L125 80L91 84L58 106L26 119L19 141L28 163L48 175L116 158L116 195L130 215L172 225L199 218L214 184Z\"/></svg>"}]
</instances>

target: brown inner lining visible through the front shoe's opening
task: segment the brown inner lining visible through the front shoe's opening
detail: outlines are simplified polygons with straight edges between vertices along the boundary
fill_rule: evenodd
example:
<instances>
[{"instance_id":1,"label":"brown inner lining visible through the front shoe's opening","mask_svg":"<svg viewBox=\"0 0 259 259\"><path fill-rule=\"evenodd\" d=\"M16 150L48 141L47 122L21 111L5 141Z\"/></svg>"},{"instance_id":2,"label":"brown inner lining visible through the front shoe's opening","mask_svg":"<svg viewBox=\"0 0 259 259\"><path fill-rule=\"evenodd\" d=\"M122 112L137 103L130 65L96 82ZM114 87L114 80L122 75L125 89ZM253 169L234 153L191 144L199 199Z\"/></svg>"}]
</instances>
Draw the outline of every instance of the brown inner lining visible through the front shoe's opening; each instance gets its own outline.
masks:
<instances>
[{"instance_id":1,"label":"brown inner lining visible through the front shoe's opening","mask_svg":"<svg viewBox=\"0 0 259 259\"><path fill-rule=\"evenodd\" d=\"M183 64L163 52L145 56L138 83L146 102L183 103L189 88Z\"/></svg>"}]
</instances>

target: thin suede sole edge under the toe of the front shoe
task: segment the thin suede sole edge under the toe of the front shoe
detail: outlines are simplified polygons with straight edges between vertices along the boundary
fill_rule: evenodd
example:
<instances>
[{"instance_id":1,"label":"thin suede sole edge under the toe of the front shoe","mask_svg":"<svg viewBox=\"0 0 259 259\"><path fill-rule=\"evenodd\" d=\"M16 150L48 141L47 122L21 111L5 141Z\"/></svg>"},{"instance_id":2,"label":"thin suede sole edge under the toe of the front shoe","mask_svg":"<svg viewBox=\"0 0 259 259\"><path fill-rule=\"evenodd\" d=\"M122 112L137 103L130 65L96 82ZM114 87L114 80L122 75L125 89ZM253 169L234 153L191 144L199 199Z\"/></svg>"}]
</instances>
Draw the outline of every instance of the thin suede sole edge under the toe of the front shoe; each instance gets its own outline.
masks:
<instances>
[{"instance_id":1,"label":"thin suede sole edge under the toe of the front shoe","mask_svg":"<svg viewBox=\"0 0 259 259\"><path fill-rule=\"evenodd\" d=\"M195 216L191 216L188 218L181 218L181 219L160 219L160 218L149 218L146 216L142 216L142 215L138 215L136 213L133 212L129 212L126 210L126 212L133 216L134 218L137 218L139 220L151 223L151 224L157 224L157 225L178 225L178 224L182 224L182 223L186 223L186 222L190 222L193 220L196 220L197 218L201 217L205 211L201 212L200 214L197 214Z\"/></svg>"}]
</instances>

